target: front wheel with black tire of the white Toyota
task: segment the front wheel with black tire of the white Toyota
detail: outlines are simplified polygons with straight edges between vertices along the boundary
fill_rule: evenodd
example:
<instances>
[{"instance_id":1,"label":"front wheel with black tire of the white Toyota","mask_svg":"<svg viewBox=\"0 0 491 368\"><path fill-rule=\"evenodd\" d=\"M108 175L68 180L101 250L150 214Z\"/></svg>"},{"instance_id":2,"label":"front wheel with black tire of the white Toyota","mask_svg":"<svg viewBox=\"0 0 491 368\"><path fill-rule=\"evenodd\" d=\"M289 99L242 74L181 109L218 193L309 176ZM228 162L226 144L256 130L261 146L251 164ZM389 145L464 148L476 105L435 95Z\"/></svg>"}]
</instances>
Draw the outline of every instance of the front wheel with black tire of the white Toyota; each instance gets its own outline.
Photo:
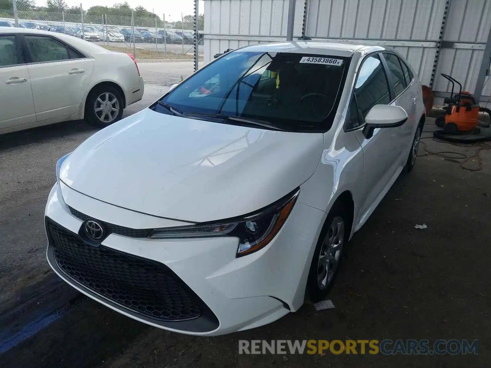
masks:
<instances>
[{"instance_id":1,"label":"front wheel with black tire of the white Toyota","mask_svg":"<svg viewBox=\"0 0 491 368\"><path fill-rule=\"evenodd\" d=\"M322 300L332 288L343 256L343 248L350 237L350 229L350 220L345 208L339 203L334 204L327 215L310 264L306 294L311 301ZM328 253L332 257L327 257ZM335 262L328 262L329 259ZM330 268L329 271L327 266Z\"/></svg>"}]
</instances>

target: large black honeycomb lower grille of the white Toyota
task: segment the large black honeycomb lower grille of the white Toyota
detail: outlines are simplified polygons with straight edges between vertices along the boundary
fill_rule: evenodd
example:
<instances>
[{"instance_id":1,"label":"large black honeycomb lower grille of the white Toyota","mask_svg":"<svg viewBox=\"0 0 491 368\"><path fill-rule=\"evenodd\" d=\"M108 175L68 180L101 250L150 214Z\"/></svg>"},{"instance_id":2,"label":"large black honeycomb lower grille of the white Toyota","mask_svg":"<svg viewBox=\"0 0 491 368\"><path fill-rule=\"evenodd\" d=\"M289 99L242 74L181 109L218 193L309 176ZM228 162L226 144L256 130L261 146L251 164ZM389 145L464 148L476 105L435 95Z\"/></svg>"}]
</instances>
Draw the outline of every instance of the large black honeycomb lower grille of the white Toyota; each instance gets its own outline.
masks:
<instances>
[{"instance_id":1,"label":"large black honeycomb lower grille of the white Toyota","mask_svg":"<svg viewBox=\"0 0 491 368\"><path fill-rule=\"evenodd\" d=\"M201 299L164 264L86 244L50 219L46 229L57 266L87 289L153 319L202 315Z\"/></svg>"}]
</instances>

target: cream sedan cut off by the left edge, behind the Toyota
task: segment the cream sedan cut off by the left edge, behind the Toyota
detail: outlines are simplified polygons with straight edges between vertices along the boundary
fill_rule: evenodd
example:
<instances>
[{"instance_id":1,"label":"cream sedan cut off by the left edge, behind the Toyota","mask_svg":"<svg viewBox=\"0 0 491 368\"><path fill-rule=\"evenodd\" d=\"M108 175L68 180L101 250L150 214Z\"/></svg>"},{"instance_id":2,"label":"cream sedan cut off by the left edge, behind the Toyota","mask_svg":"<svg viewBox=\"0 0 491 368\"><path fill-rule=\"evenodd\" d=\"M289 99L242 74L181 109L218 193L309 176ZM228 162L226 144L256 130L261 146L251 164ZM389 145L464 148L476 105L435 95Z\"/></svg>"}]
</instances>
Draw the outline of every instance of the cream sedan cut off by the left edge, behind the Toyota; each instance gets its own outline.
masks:
<instances>
[{"instance_id":1,"label":"cream sedan cut off by the left edge, behind the Toyota","mask_svg":"<svg viewBox=\"0 0 491 368\"><path fill-rule=\"evenodd\" d=\"M144 89L133 55L28 28L0 28L0 80L0 134L80 119L106 127Z\"/></svg>"}]
</instances>

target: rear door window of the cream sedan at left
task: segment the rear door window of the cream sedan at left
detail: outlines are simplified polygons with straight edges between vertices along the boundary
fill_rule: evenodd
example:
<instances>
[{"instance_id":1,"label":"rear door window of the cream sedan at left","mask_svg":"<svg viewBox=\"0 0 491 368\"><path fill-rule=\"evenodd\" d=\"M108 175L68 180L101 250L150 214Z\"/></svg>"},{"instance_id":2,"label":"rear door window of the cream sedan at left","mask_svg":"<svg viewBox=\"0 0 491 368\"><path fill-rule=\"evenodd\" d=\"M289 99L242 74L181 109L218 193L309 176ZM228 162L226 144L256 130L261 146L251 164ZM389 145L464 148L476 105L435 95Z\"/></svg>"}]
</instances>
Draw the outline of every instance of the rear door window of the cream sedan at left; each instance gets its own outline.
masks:
<instances>
[{"instance_id":1,"label":"rear door window of the cream sedan at left","mask_svg":"<svg viewBox=\"0 0 491 368\"><path fill-rule=\"evenodd\" d=\"M79 59L80 53L52 37L25 36L33 63Z\"/></svg>"}]
</instances>

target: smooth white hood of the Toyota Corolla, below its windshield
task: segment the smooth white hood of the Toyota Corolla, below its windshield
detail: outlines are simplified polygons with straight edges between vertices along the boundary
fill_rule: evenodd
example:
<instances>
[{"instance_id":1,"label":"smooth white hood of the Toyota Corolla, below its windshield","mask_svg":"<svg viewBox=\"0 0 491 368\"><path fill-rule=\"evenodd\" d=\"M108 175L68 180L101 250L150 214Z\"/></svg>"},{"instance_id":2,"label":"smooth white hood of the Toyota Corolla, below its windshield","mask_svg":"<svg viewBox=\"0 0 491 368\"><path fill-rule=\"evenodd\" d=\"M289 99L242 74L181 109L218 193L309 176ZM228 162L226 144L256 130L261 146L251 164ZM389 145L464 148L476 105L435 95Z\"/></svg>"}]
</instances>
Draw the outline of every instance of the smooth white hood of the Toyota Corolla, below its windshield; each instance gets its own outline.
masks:
<instances>
[{"instance_id":1,"label":"smooth white hood of the Toyota Corolla, below its windshield","mask_svg":"<svg viewBox=\"0 0 491 368\"><path fill-rule=\"evenodd\" d=\"M89 137L63 162L72 189L130 210L190 222L239 216L315 171L322 133L270 131L146 108Z\"/></svg>"}]
</instances>

